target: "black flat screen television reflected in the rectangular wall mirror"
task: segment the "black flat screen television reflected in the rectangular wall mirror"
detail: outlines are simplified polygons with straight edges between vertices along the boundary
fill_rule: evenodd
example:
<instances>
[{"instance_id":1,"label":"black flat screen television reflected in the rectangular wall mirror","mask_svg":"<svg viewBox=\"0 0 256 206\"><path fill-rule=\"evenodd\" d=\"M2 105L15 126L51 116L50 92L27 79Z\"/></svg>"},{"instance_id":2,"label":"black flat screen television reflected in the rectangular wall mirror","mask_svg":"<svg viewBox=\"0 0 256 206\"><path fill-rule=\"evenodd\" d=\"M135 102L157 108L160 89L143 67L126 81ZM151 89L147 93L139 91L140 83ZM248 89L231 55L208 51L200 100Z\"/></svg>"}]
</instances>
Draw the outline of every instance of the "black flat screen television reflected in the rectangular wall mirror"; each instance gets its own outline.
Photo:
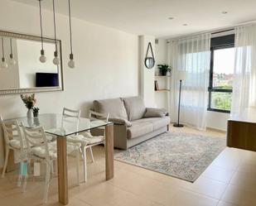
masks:
<instances>
[{"instance_id":1,"label":"black flat screen television reflected in the rectangular wall mirror","mask_svg":"<svg viewBox=\"0 0 256 206\"><path fill-rule=\"evenodd\" d=\"M58 87L59 74L57 73L36 73L36 87Z\"/></svg>"}]
</instances>

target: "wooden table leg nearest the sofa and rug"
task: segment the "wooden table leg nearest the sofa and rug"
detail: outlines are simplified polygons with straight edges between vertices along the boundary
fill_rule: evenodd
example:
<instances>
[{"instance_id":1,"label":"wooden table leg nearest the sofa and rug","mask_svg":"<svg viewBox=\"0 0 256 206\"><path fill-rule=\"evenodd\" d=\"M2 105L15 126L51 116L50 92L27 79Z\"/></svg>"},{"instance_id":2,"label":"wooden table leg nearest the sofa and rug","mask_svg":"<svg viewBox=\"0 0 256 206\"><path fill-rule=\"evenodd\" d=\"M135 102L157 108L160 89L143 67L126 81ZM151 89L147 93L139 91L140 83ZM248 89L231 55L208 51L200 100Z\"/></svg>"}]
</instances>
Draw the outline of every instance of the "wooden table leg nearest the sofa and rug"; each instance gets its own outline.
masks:
<instances>
[{"instance_id":1,"label":"wooden table leg nearest the sofa and rug","mask_svg":"<svg viewBox=\"0 0 256 206\"><path fill-rule=\"evenodd\" d=\"M113 124L106 126L105 139L105 164L106 164L106 180L114 178L114 126Z\"/></svg>"}]
</instances>

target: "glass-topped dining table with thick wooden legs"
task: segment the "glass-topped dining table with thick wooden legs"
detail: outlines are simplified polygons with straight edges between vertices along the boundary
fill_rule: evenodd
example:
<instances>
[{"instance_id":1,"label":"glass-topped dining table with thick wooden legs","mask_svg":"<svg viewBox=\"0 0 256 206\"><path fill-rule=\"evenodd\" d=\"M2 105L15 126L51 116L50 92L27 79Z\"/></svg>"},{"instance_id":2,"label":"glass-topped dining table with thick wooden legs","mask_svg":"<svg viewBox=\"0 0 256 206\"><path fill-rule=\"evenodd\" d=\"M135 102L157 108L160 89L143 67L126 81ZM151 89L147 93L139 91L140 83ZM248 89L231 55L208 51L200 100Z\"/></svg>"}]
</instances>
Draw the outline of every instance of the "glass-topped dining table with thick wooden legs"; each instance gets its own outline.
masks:
<instances>
[{"instance_id":1,"label":"glass-topped dining table with thick wooden legs","mask_svg":"<svg viewBox=\"0 0 256 206\"><path fill-rule=\"evenodd\" d=\"M56 136L58 165L58 194L60 204L68 204L67 147L66 137L95 128L105 127L105 175L106 180L114 178L113 123L99 119L69 117L56 113L40 114L38 117L15 118L25 127L44 127L46 133Z\"/></svg>"}]
</instances>

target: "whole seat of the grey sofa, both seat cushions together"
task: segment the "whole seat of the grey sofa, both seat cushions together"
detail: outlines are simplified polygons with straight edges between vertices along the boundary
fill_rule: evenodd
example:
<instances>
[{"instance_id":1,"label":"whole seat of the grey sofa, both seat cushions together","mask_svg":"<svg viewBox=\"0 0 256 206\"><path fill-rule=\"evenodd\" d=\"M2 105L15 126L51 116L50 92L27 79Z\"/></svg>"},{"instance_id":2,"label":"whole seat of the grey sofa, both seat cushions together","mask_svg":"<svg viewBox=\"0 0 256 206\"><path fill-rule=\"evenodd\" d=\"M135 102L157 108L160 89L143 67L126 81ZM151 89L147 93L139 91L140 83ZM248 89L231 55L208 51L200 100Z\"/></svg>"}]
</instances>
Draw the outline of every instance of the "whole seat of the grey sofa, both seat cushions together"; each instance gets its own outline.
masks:
<instances>
[{"instance_id":1,"label":"whole seat of the grey sofa, both seat cushions together","mask_svg":"<svg viewBox=\"0 0 256 206\"><path fill-rule=\"evenodd\" d=\"M170 117L142 118L131 123L132 127L128 127L128 139L140 137L162 127L167 127L170 123Z\"/></svg>"}]
</instances>

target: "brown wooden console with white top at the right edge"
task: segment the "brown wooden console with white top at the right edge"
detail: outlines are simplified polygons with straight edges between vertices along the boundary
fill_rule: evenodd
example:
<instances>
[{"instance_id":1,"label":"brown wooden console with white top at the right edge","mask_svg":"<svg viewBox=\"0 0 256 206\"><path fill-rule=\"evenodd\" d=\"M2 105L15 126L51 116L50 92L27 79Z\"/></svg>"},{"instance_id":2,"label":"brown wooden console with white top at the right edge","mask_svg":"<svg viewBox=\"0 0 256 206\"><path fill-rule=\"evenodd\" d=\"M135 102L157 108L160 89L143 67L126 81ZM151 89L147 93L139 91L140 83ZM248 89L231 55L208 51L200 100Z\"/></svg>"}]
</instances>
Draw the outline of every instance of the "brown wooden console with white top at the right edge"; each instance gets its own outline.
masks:
<instances>
[{"instance_id":1,"label":"brown wooden console with white top at the right edge","mask_svg":"<svg viewBox=\"0 0 256 206\"><path fill-rule=\"evenodd\" d=\"M227 146L256 151L256 109L228 120Z\"/></svg>"}]
</instances>

